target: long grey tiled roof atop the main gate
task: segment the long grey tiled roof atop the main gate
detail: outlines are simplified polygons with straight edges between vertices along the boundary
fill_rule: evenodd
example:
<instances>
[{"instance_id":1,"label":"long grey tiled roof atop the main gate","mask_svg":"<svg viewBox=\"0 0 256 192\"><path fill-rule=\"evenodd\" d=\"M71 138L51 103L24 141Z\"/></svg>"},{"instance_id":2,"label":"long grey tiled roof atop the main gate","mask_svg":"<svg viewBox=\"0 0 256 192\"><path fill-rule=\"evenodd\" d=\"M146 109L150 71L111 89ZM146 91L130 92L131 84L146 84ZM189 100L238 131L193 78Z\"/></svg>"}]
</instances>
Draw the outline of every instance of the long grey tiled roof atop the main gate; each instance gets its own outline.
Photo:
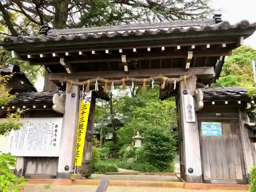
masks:
<instances>
[{"instance_id":1,"label":"long grey tiled roof atop the main gate","mask_svg":"<svg viewBox=\"0 0 256 192\"><path fill-rule=\"evenodd\" d=\"M172 33L201 32L201 31L218 31L228 29L247 29L256 28L256 23L250 24L248 20L241 20L238 24L230 25L229 22L223 21L216 24L215 19L184 20L173 23L150 23L150 24L131 24L112 27L91 27L80 29L50 29L46 30L44 35L36 37L18 36L6 37L1 45L25 43L25 42L45 42L56 40L79 40L102 37L127 37L142 35L160 35Z\"/></svg>"}]
</instances>

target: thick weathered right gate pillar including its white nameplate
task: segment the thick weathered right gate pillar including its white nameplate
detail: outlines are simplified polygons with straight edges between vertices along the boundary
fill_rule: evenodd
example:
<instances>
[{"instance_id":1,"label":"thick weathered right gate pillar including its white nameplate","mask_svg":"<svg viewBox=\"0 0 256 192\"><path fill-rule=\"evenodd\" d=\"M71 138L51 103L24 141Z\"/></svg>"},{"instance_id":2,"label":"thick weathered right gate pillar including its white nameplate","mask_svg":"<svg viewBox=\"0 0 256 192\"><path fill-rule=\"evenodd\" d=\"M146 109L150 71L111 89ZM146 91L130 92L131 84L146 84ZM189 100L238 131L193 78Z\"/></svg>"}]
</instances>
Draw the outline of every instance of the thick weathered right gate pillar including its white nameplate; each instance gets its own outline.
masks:
<instances>
[{"instance_id":1,"label":"thick weathered right gate pillar including its white nameplate","mask_svg":"<svg viewBox=\"0 0 256 192\"><path fill-rule=\"evenodd\" d=\"M188 183L202 183L202 167L197 114L196 112L192 113L190 117L193 118L187 116L187 114L191 112L188 109L189 106L192 108L195 106L194 99L191 97L194 94L191 88L195 82L195 77L191 77L186 80L186 87L184 86L183 81L180 82L178 92L179 98L177 98L180 124L179 129L181 129L180 136L182 137L182 144L180 145L181 178Z\"/></svg>"}]
</instances>

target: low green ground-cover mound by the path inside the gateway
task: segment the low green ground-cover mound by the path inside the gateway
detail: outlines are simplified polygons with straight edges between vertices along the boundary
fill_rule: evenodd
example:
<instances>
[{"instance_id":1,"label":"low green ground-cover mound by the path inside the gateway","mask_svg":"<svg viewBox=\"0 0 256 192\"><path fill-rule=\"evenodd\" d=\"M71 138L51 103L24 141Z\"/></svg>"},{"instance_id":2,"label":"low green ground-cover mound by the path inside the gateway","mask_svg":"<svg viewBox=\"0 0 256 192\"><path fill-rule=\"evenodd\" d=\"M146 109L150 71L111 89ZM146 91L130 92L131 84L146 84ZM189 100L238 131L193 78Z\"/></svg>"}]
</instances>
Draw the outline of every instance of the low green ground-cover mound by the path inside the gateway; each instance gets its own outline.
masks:
<instances>
[{"instance_id":1,"label":"low green ground-cover mound by the path inside the gateway","mask_svg":"<svg viewBox=\"0 0 256 192\"><path fill-rule=\"evenodd\" d=\"M129 170L136 170L137 172L142 173L155 173L159 172L159 169L151 164L148 163L127 163L125 161L121 161L117 163L119 168L129 169Z\"/></svg>"}]
</instances>

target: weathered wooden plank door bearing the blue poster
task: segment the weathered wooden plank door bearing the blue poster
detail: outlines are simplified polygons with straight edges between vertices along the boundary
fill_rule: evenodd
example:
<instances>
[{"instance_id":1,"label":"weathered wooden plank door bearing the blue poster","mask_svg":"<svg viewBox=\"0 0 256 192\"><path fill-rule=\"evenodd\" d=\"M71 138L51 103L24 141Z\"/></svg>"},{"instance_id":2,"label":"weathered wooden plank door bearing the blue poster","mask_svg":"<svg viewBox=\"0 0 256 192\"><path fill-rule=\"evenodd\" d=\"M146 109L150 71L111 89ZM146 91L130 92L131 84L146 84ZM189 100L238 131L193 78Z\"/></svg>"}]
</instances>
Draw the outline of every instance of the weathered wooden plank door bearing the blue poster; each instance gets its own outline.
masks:
<instances>
[{"instance_id":1,"label":"weathered wooden plank door bearing the blue poster","mask_svg":"<svg viewBox=\"0 0 256 192\"><path fill-rule=\"evenodd\" d=\"M222 135L202 135L202 122L220 122ZM199 130L204 182L246 184L238 120L199 121Z\"/></svg>"}]
</instances>

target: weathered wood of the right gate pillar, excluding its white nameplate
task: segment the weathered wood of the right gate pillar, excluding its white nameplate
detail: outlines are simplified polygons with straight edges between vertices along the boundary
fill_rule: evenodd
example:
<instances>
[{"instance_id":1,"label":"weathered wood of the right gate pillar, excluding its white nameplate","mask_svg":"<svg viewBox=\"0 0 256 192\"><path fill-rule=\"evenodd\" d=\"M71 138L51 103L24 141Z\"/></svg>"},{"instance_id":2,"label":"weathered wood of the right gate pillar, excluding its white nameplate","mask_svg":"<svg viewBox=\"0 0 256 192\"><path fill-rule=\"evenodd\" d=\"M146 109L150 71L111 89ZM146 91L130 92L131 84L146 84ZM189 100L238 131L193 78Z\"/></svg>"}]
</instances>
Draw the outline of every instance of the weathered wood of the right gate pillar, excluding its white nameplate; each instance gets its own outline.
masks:
<instances>
[{"instance_id":1,"label":"weathered wood of the right gate pillar, excluding its white nameplate","mask_svg":"<svg viewBox=\"0 0 256 192\"><path fill-rule=\"evenodd\" d=\"M187 79L187 88L184 87L184 82L179 83L179 94L180 94L180 107L182 114L182 130L183 130L183 142L184 142L184 163L185 163L185 176L182 178L186 182L202 182L202 166L201 166L201 155L200 155L200 143L199 143L199 131L198 122L186 122L185 118L185 106L184 106L184 94L186 90L187 94L192 95L191 87L195 82L194 78ZM197 116L197 115L195 115ZM189 173L188 169L192 168L193 172Z\"/></svg>"}]
</instances>

